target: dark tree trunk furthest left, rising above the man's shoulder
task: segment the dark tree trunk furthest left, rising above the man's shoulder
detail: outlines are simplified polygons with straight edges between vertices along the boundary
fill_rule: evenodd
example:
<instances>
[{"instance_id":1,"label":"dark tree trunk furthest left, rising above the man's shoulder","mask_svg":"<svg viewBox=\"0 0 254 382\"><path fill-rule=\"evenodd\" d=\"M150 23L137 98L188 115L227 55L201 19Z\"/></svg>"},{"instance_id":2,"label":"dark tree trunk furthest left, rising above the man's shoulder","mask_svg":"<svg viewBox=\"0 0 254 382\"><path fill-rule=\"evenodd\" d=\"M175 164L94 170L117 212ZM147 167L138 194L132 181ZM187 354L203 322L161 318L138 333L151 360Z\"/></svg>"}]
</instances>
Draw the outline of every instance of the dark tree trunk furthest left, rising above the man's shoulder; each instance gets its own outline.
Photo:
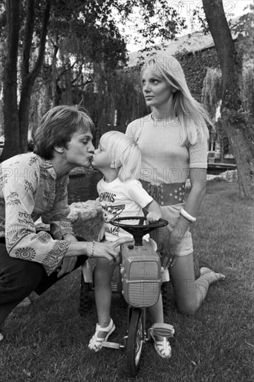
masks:
<instances>
[{"instance_id":1,"label":"dark tree trunk furthest left, rising above the man's shoulder","mask_svg":"<svg viewBox=\"0 0 254 382\"><path fill-rule=\"evenodd\" d=\"M17 110L17 51L19 45L19 0L6 0L7 53L3 69L3 121L5 143L1 161L21 152Z\"/></svg>"}]
</instances>

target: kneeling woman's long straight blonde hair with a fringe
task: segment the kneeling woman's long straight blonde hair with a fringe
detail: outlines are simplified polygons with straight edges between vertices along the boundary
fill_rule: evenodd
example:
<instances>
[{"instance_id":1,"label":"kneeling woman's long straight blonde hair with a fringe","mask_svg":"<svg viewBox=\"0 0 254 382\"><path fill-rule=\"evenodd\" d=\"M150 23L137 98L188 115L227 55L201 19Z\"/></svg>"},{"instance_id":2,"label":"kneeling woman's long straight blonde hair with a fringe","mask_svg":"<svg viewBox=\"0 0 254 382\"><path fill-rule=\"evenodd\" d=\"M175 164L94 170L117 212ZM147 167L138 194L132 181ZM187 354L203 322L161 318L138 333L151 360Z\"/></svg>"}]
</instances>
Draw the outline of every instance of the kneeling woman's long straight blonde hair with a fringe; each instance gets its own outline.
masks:
<instances>
[{"instance_id":1,"label":"kneeling woman's long straight blonde hair with a fringe","mask_svg":"<svg viewBox=\"0 0 254 382\"><path fill-rule=\"evenodd\" d=\"M192 97L178 60L173 56L158 53L146 60L141 69L141 77L146 69L160 72L169 85L176 90L173 92L173 116L178 117L180 121L180 144L184 146L194 144L198 139L208 139L209 132L206 122L213 126L212 120L205 108Z\"/></svg>"}]
</instances>

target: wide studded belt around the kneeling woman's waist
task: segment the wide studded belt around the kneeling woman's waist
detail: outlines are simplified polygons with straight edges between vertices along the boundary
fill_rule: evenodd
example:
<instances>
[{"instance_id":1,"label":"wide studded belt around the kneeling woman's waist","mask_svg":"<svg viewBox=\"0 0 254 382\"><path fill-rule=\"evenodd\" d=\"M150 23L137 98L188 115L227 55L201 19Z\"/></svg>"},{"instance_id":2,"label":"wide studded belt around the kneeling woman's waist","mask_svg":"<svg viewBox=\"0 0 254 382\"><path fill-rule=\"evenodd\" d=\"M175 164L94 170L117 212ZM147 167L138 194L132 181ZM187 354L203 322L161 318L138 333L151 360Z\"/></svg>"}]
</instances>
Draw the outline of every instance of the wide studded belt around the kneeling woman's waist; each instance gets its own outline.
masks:
<instances>
[{"instance_id":1,"label":"wide studded belt around the kneeling woman's waist","mask_svg":"<svg viewBox=\"0 0 254 382\"><path fill-rule=\"evenodd\" d=\"M160 206L173 206L185 203L185 183L160 183L159 185L142 181L142 187Z\"/></svg>"}]
</instances>

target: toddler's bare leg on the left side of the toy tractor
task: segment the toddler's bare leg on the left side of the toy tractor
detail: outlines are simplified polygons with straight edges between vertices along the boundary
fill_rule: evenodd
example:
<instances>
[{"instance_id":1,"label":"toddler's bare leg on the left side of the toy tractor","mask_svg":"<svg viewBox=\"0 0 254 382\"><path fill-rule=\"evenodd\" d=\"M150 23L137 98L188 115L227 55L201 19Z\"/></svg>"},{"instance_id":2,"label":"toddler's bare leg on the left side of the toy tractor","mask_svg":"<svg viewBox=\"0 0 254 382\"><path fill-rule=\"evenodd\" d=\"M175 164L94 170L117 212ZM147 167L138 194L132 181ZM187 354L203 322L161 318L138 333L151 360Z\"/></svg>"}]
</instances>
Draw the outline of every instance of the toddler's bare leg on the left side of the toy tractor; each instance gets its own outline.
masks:
<instances>
[{"instance_id":1,"label":"toddler's bare leg on the left side of the toy tractor","mask_svg":"<svg viewBox=\"0 0 254 382\"><path fill-rule=\"evenodd\" d=\"M102 328L110 324L111 279L114 267L105 258L99 258L94 269L94 290L99 325ZM98 337L104 338L105 332L99 332Z\"/></svg>"}]
</instances>

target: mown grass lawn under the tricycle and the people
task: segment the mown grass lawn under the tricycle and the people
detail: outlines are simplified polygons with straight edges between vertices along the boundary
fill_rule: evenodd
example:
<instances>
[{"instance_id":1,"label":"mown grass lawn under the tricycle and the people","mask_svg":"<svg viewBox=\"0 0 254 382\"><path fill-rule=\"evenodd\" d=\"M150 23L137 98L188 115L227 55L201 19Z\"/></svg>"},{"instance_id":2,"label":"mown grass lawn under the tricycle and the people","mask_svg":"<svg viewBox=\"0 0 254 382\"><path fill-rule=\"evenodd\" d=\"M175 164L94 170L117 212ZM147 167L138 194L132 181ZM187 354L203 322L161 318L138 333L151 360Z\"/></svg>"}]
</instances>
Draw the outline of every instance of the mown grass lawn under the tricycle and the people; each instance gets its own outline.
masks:
<instances>
[{"instance_id":1,"label":"mown grass lawn under the tricycle and the people","mask_svg":"<svg viewBox=\"0 0 254 382\"><path fill-rule=\"evenodd\" d=\"M126 350L87 349L96 324L78 313L80 270L6 320L0 345L1 382L253 382L254 257L253 202L238 198L235 183L208 183L192 230L195 269L205 260L226 274L210 287L198 313L188 317L171 307L172 358L162 360L151 342L142 350L136 378L126 376ZM126 306L115 295L112 317L117 329L110 340L126 335Z\"/></svg>"}]
</instances>

